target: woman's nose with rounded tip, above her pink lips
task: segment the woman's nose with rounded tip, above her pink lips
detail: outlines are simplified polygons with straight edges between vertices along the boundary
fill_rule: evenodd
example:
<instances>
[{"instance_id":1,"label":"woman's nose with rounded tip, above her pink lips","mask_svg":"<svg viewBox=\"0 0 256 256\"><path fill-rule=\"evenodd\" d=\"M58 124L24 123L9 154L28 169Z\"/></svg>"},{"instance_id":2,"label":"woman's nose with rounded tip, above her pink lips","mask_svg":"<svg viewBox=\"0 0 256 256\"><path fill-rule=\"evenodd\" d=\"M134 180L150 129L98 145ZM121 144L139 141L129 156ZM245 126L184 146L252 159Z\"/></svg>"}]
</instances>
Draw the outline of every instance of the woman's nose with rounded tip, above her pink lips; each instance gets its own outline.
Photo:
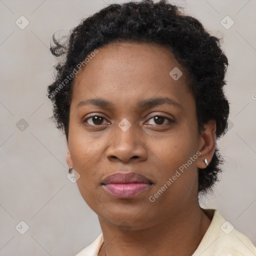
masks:
<instances>
[{"instance_id":1,"label":"woman's nose with rounded tip, above her pink lips","mask_svg":"<svg viewBox=\"0 0 256 256\"><path fill-rule=\"evenodd\" d=\"M126 131L116 127L115 131L106 150L106 156L110 161L144 161L147 158L146 143L134 125Z\"/></svg>"}]
</instances>

